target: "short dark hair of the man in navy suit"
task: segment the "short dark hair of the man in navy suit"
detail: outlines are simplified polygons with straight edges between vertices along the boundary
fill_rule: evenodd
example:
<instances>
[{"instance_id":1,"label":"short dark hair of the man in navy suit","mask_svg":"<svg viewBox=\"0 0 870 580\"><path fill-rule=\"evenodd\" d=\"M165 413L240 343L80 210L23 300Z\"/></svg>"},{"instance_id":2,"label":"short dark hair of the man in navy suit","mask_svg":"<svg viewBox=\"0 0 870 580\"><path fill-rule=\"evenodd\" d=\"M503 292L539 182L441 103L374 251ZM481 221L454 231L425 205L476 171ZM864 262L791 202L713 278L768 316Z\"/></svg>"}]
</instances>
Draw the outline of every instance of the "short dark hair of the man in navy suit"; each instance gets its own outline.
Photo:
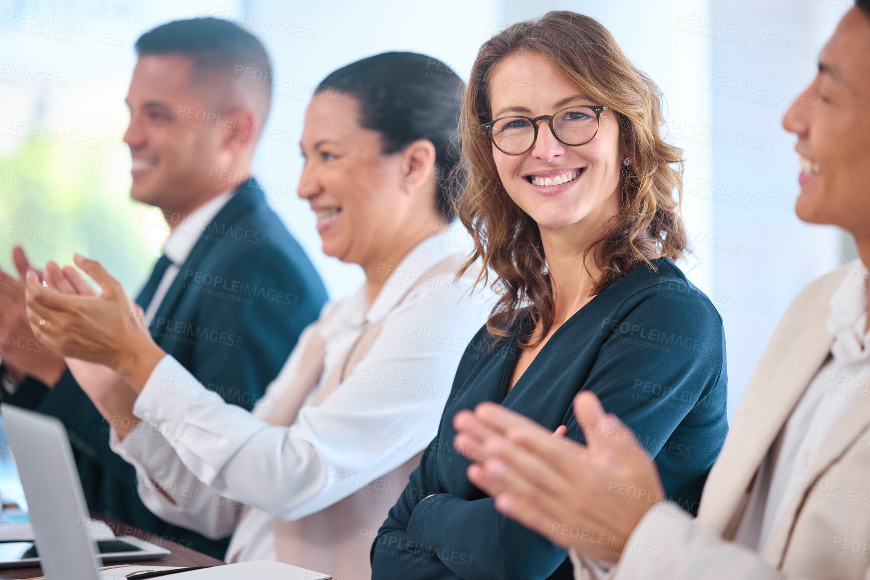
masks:
<instances>
[{"instance_id":1,"label":"short dark hair of the man in navy suit","mask_svg":"<svg viewBox=\"0 0 870 580\"><path fill-rule=\"evenodd\" d=\"M180 54L193 61L202 73L223 73L228 83L263 93L265 120L271 102L271 63L257 37L236 23L204 17L174 20L145 32L136 41L136 52L144 55Z\"/></svg>"}]
</instances>

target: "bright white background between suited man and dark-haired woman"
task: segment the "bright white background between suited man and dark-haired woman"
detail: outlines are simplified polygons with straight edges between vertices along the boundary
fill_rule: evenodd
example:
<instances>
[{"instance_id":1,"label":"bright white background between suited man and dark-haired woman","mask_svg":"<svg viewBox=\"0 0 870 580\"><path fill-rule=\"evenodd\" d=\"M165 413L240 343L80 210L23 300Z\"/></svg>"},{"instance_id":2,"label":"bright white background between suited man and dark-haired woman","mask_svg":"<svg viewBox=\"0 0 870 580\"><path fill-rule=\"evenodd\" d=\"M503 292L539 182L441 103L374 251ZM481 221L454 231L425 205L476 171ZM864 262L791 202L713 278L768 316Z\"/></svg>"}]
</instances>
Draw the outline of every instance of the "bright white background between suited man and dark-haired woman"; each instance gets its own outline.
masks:
<instances>
[{"instance_id":1,"label":"bright white background between suited man and dark-haired woman","mask_svg":"<svg viewBox=\"0 0 870 580\"><path fill-rule=\"evenodd\" d=\"M311 2L249 0L242 22L265 23L259 36L269 50L278 93L267 125L292 134L290 143L265 139L255 172L265 183L272 205L303 244L324 278L330 297L351 294L363 282L358 266L325 257L308 203L296 198L302 168L298 139L305 106L317 84L332 70L387 50L410 50L436 57L467 80L478 47L492 27L495 0L442 0L438 3ZM269 32L275 22L298 36ZM249 27L249 30L258 30ZM294 29L298 30L298 29ZM289 90L282 90L281 87Z\"/></svg>"}]
</instances>

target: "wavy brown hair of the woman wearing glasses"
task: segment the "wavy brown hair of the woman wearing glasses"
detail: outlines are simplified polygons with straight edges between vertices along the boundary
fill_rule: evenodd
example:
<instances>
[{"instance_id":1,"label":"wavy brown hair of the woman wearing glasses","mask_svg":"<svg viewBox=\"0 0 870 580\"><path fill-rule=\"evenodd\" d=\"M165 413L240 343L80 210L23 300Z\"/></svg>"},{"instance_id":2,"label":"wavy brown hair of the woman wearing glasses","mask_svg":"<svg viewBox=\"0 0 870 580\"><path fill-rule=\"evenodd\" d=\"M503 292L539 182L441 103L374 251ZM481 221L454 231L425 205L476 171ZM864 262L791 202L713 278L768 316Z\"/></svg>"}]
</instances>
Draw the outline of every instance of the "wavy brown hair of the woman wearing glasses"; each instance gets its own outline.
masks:
<instances>
[{"instance_id":1,"label":"wavy brown hair of the woman wearing glasses","mask_svg":"<svg viewBox=\"0 0 870 580\"><path fill-rule=\"evenodd\" d=\"M592 295L651 257L683 257L688 250L679 214L682 201L682 153L665 143L659 88L628 60L598 21L576 12L552 11L513 24L486 41L478 51L465 91L460 129L468 181L457 201L459 220L474 243L472 257L484 268L478 283L496 280L501 298L492 309L487 330L506 336L505 327L524 303L529 304L540 342L552 328L554 300L538 224L508 197L492 158L492 141L481 128L491 120L493 71L502 59L520 51L542 55L593 102L611 107L619 120L621 150L631 159L620 165L622 199L619 215L583 256L599 270ZM676 190L676 199L674 198ZM587 268L588 270L588 268ZM530 338L530 337L525 337Z\"/></svg>"}]
</instances>

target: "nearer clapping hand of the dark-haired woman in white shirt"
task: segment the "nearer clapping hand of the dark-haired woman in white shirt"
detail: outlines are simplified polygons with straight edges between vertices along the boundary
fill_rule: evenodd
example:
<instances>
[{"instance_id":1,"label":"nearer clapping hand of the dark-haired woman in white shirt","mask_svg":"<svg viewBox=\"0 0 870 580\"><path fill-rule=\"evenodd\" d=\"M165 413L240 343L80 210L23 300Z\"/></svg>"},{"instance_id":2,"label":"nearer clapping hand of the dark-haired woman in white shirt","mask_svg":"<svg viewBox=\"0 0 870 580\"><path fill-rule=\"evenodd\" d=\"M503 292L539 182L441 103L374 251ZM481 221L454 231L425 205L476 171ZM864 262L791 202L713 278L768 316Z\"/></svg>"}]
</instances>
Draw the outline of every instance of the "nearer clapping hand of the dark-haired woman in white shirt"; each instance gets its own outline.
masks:
<instances>
[{"instance_id":1,"label":"nearer clapping hand of the dark-haired woman in white shirt","mask_svg":"<svg viewBox=\"0 0 870 580\"><path fill-rule=\"evenodd\" d=\"M103 266L76 256L100 287L97 294L74 269L52 264L43 287L27 277L27 314L37 338L64 357L101 363L141 390L164 351L151 339L141 309Z\"/></svg>"}]
</instances>

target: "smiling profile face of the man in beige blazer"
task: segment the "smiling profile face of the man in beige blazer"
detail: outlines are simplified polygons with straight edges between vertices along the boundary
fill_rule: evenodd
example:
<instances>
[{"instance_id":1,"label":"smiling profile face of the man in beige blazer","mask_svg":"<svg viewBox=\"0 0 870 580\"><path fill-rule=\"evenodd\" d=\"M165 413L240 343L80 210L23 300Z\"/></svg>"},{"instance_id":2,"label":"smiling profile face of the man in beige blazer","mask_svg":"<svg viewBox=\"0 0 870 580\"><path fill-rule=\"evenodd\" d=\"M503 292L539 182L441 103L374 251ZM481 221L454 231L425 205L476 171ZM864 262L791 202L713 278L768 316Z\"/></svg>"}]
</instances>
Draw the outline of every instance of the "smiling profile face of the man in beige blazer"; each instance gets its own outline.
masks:
<instances>
[{"instance_id":1,"label":"smiling profile face of the man in beige blazer","mask_svg":"<svg viewBox=\"0 0 870 580\"><path fill-rule=\"evenodd\" d=\"M819 73L786 113L798 136L797 214L870 237L870 17L849 10L822 50Z\"/></svg>"}]
</instances>

